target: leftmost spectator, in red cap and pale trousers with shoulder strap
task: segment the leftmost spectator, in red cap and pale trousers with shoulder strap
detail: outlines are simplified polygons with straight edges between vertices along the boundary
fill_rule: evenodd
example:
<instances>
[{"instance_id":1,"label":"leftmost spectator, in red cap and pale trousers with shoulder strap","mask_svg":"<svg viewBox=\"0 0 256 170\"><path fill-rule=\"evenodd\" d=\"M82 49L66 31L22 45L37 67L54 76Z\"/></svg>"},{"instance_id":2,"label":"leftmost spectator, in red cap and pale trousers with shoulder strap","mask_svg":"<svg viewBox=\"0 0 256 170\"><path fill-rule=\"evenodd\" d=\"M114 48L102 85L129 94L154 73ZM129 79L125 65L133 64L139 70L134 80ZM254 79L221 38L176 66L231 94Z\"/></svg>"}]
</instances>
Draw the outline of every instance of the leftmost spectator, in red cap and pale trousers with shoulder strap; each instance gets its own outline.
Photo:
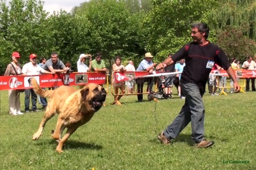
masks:
<instances>
[{"instance_id":1,"label":"leftmost spectator, in red cap and pale trousers with shoulder strap","mask_svg":"<svg viewBox=\"0 0 256 170\"><path fill-rule=\"evenodd\" d=\"M19 56L18 52L13 53L11 57L13 61L7 65L5 74L3 74L3 76L17 76L17 74L21 74L21 64L19 64L20 58L21 56ZM19 90L8 90L9 114L11 115L23 114L21 112L21 101L19 94Z\"/></svg>"}]
</instances>

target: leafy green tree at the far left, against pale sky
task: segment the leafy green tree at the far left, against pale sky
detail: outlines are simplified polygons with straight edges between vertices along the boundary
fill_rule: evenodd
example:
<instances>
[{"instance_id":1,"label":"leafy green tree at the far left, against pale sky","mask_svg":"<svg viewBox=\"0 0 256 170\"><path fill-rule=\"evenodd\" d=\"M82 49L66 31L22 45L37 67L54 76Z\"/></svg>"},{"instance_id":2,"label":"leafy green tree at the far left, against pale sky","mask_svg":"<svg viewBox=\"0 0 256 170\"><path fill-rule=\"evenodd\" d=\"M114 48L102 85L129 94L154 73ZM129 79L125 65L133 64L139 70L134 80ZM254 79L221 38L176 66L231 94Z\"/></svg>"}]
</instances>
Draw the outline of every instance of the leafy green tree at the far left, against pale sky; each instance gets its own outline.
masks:
<instances>
[{"instance_id":1,"label":"leafy green tree at the far left, against pale sky","mask_svg":"<svg viewBox=\"0 0 256 170\"><path fill-rule=\"evenodd\" d=\"M0 2L0 57L1 73L10 62L11 53L18 51L22 63L29 61L30 53L44 56L50 47L50 33L47 30L47 13L43 2L35 0L13 0L9 7L5 1Z\"/></svg>"}]
</instances>

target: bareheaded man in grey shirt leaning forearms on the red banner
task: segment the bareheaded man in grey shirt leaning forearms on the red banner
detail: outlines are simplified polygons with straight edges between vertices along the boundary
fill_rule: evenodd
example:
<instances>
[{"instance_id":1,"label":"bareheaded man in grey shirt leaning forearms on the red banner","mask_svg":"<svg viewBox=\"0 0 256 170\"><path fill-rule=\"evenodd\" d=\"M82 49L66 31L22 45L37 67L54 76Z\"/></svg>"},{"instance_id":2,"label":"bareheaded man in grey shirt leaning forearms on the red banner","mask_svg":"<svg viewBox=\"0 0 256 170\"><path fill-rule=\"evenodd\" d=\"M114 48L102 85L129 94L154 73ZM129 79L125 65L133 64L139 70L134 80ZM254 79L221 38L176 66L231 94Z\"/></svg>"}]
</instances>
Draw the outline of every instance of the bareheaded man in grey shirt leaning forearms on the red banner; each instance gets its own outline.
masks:
<instances>
[{"instance_id":1,"label":"bareheaded man in grey shirt leaning forearms on the red banner","mask_svg":"<svg viewBox=\"0 0 256 170\"><path fill-rule=\"evenodd\" d=\"M63 62L59 60L58 53L53 52L51 53L51 59L47 60L46 63L43 65L43 69L47 72L55 72L55 73L62 73L69 70L69 68L65 67ZM57 87L49 88L54 90Z\"/></svg>"}]
</instances>

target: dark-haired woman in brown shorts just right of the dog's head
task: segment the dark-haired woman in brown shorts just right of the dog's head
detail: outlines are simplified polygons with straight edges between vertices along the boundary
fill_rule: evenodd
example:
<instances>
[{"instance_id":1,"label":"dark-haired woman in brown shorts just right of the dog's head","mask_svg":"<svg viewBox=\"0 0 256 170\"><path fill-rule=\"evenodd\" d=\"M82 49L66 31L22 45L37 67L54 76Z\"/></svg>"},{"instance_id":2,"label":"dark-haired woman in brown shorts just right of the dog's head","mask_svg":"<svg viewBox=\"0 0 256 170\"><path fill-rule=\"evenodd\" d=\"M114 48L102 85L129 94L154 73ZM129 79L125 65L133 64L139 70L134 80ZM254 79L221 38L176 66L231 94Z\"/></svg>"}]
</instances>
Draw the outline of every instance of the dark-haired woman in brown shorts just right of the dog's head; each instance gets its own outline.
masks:
<instances>
[{"instance_id":1,"label":"dark-haired woman in brown shorts just right of the dog's head","mask_svg":"<svg viewBox=\"0 0 256 170\"><path fill-rule=\"evenodd\" d=\"M120 56L115 57L115 64L112 65L112 70L113 72L123 72L126 71L126 68L121 64L122 59ZM115 77L113 77L113 85L115 89L115 96L114 96L114 102L112 105L121 105L119 100L123 96L122 94L125 94L125 83L124 82L119 82L118 84L115 82ZM118 89L120 88L121 90L121 95L118 94Z\"/></svg>"}]
</instances>

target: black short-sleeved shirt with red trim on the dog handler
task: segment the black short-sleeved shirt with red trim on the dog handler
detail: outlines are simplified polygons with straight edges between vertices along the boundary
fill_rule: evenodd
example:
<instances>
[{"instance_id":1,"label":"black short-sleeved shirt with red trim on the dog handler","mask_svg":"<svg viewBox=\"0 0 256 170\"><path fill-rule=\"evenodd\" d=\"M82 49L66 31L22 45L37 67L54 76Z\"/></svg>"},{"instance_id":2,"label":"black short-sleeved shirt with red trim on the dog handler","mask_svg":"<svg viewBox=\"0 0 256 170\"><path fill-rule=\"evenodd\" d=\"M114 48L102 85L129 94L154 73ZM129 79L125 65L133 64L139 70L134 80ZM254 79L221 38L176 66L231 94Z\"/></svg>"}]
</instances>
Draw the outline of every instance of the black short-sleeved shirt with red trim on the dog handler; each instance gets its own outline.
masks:
<instances>
[{"instance_id":1,"label":"black short-sleeved shirt with red trim on the dog handler","mask_svg":"<svg viewBox=\"0 0 256 170\"><path fill-rule=\"evenodd\" d=\"M206 45L200 45L196 42L187 44L171 56L171 59L174 63L185 59L186 66L181 74L181 82L197 84L200 92L204 92L211 72L211 68L206 68L207 63L214 61L215 64L225 70L231 66L223 50L210 42Z\"/></svg>"}]
</instances>

